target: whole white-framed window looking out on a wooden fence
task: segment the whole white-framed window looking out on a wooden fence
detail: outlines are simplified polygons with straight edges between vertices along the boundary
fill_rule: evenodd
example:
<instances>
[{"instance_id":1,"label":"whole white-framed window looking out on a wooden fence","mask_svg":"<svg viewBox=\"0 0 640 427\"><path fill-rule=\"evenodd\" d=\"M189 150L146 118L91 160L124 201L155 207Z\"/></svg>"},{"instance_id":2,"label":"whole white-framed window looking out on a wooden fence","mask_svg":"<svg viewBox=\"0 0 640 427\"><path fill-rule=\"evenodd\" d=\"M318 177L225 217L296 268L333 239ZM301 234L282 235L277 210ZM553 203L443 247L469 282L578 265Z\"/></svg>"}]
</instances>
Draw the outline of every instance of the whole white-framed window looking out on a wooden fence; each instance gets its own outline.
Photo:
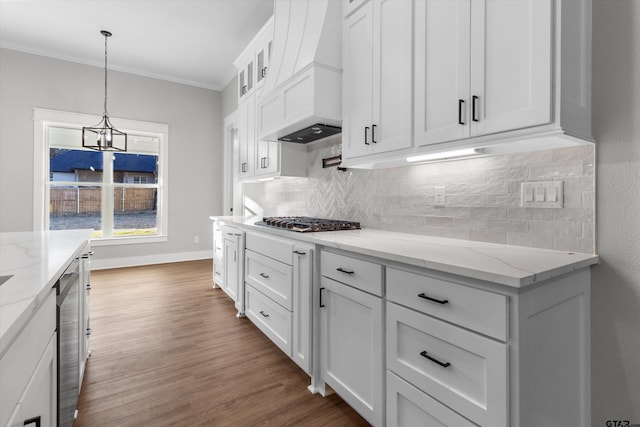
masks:
<instances>
[{"instance_id":1,"label":"whole white-framed window looking out on a wooden fence","mask_svg":"<svg viewBox=\"0 0 640 427\"><path fill-rule=\"evenodd\" d=\"M48 180L34 181L34 229L93 228L98 245L166 241L168 126L114 120L128 134L127 152L83 149L82 126L99 120L35 110L36 169Z\"/></svg>"}]
</instances>

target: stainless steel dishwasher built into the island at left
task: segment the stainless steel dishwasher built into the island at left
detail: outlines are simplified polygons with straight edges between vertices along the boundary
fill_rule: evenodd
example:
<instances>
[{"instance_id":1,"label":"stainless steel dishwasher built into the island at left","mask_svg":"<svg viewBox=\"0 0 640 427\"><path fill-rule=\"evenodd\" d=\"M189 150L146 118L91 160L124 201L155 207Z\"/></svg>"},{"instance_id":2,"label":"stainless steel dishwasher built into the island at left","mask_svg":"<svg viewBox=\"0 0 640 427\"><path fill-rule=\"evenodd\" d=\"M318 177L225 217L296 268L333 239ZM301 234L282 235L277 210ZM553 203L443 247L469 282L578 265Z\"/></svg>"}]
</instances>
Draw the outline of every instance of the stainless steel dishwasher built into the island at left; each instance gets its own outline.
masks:
<instances>
[{"instance_id":1,"label":"stainless steel dishwasher built into the island at left","mask_svg":"<svg viewBox=\"0 0 640 427\"><path fill-rule=\"evenodd\" d=\"M80 393L80 261L75 259L56 283L58 426L71 427Z\"/></svg>"}]
</instances>

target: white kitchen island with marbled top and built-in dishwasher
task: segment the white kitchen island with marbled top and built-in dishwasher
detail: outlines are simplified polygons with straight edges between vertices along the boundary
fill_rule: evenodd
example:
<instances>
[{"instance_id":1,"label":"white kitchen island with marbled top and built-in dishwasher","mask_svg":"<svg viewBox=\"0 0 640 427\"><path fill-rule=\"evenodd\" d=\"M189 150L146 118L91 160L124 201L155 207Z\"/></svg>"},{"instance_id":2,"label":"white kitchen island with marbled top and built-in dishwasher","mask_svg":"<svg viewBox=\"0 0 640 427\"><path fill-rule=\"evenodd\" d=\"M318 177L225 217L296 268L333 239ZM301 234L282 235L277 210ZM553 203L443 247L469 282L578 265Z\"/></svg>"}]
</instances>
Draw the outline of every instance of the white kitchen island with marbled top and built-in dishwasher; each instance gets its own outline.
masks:
<instances>
[{"instance_id":1,"label":"white kitchen island with marbled top and built-in dishwasher","mask_svg":"<svg viewBox=\"0 0 640 427\"><path fill-rule=\"evenodd\" d=\"M0 233L0 425L73 422L88 348L79 328L89 315L81 285L91 231ZM68 384L75 384L70 395Z\"/></svg>"}]
</instances>

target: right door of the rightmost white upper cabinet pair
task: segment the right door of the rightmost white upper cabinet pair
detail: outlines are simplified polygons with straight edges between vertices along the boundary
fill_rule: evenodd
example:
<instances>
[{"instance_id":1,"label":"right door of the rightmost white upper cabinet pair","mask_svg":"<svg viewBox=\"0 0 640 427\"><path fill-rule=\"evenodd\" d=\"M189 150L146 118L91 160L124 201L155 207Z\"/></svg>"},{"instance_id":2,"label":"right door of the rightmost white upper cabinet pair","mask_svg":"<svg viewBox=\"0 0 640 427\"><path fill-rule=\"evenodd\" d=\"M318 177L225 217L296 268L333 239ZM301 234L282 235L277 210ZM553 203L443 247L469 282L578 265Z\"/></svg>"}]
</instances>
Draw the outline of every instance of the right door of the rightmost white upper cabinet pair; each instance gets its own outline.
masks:
<instances>
[{"instance_id":1,"label":"right door of the rightmost white upper cabinet pair","mask_svg":"<svg viewBox=\"0 0 640 427\"><path fill-rule=\"evenodd\" d=\"M551 122L552 3L471 2L472 136Z\"/></svg>"}]
</instances>

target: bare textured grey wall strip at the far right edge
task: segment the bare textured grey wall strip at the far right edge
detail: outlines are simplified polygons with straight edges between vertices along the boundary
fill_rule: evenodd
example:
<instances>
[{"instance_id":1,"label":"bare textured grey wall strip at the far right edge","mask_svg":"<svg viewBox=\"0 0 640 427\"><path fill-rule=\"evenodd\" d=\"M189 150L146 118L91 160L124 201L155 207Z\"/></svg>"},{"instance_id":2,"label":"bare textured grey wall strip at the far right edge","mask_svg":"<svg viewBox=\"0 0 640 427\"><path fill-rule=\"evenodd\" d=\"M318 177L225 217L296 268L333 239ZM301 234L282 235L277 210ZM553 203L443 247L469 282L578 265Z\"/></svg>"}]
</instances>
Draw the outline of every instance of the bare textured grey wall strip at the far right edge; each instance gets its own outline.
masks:
<instances>
[{"instance_id":1,"label":"bare textured grey wall strip at the far right edge","mask_svg":"<svg viewBox=\"0 0 640 427\"><path fill-rule=\"evenodd\" d=\"M640 1L593 2L593 426L640 424Z\"/></svg>"}]
</instances>

